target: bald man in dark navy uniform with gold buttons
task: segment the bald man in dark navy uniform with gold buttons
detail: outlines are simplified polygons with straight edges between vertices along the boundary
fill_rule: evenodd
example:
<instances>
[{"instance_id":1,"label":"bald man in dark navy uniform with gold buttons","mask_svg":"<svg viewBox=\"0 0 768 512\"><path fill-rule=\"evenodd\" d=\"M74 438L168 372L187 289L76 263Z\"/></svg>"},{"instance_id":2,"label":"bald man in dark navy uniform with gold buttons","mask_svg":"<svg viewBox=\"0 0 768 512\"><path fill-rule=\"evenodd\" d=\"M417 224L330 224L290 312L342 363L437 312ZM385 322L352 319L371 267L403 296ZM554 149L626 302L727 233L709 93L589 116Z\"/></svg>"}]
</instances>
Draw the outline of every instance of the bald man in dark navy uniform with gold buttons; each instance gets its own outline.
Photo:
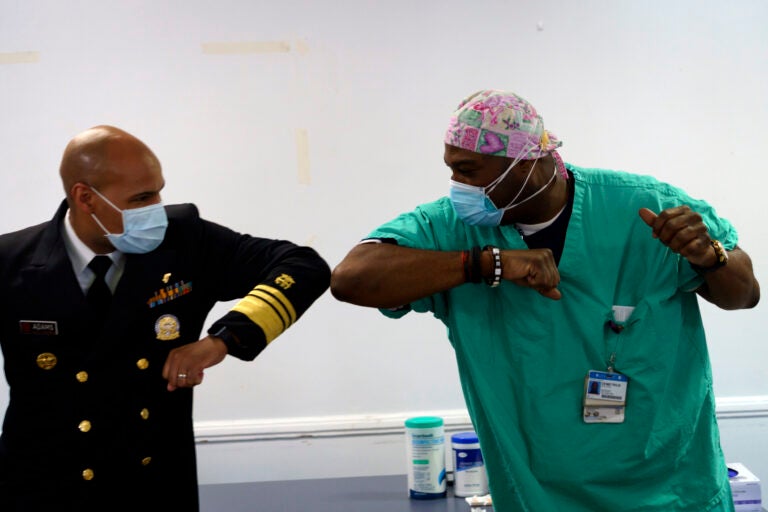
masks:
<instances>
[{"instance_id":1,"label":"bald man in dark navy uniform with gold buttons","mask_svg":"<svg viewBox=\"0 0 768 512\"><path fill-rule=\"evenodd\" d=\"M118 128L77 135L60 173L54 218L0 236L0 510L197 510L193 387L227 354L255 358L330 269L164 206L159 160Z\"/></svg>"}]
</instances>

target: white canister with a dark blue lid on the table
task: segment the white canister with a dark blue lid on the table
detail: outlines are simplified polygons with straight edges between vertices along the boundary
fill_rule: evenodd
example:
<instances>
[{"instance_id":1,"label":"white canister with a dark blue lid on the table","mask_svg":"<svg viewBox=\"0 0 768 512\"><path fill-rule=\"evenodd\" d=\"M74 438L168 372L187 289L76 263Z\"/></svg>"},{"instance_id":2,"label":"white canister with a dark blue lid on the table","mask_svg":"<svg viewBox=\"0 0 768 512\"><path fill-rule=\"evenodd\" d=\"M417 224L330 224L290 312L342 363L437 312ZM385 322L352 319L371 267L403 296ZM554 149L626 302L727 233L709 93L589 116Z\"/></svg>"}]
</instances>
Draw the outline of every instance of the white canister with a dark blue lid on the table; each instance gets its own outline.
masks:
<instances>
[{"instance_id":1,"label":"white canister with a dark blue lid on the table","mask_svg":"<svg viewBox=\"0 0 768 512\"><path fill-rule=\"evenodd\" d=\"M459 432L451 436L453 448L453 494L460 497L488 494L488 475L474 432Z\"/></svg>"}]
</instances>

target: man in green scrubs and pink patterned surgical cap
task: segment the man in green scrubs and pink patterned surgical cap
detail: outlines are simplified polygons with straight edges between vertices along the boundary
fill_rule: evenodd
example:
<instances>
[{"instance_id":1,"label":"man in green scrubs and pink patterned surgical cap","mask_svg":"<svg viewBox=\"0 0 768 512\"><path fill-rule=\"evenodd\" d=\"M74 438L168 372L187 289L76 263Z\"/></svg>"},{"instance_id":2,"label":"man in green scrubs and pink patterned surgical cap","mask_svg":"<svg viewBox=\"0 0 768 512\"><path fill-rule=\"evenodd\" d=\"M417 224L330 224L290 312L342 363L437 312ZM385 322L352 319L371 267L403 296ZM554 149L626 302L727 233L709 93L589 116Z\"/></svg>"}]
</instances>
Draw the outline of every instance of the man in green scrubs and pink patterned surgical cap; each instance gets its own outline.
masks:
<instances>
[{"instance_id":1,"label":"man in green scrubs and pink patterned surgical cap","mask_svg":"<svg viewBox=\"0 0 768 512\"><path fill-rule=\"evenodd\" d=\"M706 202L560 145L520 96L469 96L449 196L371 232L331 291L447 326L497 512L733 511L698 296L754 307L751 260Z\"/></svg>"}]
</instances>

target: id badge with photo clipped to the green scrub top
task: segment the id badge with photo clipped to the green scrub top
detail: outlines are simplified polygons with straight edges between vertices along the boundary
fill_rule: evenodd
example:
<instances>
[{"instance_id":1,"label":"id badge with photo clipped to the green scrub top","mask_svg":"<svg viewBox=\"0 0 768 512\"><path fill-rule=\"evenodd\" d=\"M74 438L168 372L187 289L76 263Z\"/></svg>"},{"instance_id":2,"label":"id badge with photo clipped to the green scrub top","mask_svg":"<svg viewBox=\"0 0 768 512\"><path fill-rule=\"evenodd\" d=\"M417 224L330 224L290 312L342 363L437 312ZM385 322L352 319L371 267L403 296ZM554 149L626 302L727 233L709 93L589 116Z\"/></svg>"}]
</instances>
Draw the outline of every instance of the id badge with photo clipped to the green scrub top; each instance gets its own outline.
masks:
<instances>
[{"instance_id":1,"label":"id badge with photo clipped to the green scrub top","mask_svg":"<svg viewBox=\"0 0 768 512\"><path fill-rule=\"evenodd\" d=\"M590 370L584 379L584 422L624 423L626 375Z\"/></svg>"}]
</instances>

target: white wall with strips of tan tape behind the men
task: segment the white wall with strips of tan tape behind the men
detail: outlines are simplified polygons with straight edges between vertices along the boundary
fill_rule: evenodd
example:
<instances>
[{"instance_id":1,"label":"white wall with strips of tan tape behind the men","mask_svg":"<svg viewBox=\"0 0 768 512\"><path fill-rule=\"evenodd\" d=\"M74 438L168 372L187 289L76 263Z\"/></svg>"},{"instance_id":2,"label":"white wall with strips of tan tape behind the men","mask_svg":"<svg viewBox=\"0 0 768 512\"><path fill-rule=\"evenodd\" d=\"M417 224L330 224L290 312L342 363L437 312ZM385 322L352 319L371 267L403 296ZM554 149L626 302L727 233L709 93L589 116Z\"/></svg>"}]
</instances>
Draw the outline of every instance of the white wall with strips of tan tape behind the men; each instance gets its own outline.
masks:
<instances>
[{"instance_id":1,"label":"white wall with strips of tan tape behind the men","mask_svg":"<svg viewBox=\"0 0 768 512\"><path fill-rule=\"evenodd\" d=\"M567 161L709 200L759 278L767 25L762 0L0 0L0 232L51 217L66 142L107 123L155 150L167 202L312 245L333 266L373 227L446 193L448 117L496 87L538 108ZM765 307L703 311L721 417L740 432L724 426L726 456L768 478ZM230 475L226 446L280 438L297 467L331 424L323 443L374 461L377 436L396 436L404 417L445 412L460 428L464 409L438 322L330 294L256 361L209 371L196 397L204 482Z\"/></svg>"}]
</instances>

